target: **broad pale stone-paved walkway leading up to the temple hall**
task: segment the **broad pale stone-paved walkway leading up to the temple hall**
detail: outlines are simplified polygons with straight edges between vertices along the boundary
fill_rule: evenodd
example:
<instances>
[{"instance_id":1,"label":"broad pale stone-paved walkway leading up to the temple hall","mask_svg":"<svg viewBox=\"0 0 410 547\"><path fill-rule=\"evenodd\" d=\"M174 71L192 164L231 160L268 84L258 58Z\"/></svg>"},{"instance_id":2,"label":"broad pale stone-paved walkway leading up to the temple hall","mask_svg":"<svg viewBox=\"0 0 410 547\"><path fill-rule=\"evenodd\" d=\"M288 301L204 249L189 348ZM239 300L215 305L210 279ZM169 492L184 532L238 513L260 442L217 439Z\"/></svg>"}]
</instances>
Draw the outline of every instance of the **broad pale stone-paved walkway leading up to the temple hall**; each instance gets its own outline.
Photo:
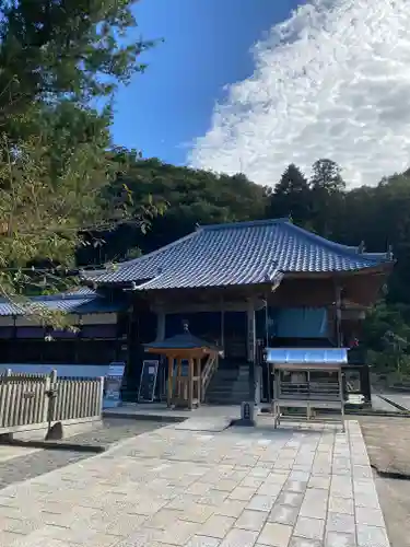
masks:
<instances>
[{"instance_id":1,"label":"broad pale stone-paved walkway leading up to the temple hall","mask_svg":"<svg viewBox=\"0 0 410 547\"><path fill-rule=\"evenodd\" d=\"M388 547L347 426L143 433L0 490L0 546Z\"/></svg>"}]
</instances>

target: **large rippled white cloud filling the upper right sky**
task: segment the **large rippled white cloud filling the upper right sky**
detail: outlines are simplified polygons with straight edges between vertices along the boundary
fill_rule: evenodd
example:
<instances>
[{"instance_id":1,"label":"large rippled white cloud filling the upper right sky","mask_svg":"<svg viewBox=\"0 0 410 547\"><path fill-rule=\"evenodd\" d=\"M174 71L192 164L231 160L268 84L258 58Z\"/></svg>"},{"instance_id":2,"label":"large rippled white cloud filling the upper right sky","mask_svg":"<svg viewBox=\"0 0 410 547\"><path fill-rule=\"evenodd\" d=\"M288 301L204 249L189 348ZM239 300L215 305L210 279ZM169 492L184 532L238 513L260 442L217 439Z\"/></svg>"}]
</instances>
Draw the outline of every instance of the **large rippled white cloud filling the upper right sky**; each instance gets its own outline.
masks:
<instances>
[{"instance_id":1,"label":"large rippled white cloud filling the upper right sky","mask_svg":"<svg viewBox=\"0 0 410 547\"><path fill-rule=\"evenodd\" d=\"M230 85L196 167L274 185L319 158L351 186L410 165L409 0L311 0L255 46L251 78Z\"/></svg>"}]
</instances>

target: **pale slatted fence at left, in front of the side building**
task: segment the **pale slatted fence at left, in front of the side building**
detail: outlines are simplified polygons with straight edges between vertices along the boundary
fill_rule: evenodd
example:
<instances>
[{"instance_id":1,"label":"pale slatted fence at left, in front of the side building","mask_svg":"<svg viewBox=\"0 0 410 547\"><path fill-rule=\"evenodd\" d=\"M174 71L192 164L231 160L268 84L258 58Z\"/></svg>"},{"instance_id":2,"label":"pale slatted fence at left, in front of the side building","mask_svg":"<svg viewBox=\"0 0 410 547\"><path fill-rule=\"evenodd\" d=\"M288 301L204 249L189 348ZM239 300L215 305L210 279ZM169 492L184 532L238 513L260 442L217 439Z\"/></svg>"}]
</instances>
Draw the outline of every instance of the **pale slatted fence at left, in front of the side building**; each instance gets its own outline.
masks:
<instances>
[{"instance_id":1,"label":"pale slatted fence at left, in front of the side building","mask_svg":"<svg viewBox=\"0 0 410 547\"><path fill-rule=\"evenodd\" d=\"M30 426L101 417L104 379L65 379L51 374L0 374L0 433Z\"/></svg>"}]
</instances>

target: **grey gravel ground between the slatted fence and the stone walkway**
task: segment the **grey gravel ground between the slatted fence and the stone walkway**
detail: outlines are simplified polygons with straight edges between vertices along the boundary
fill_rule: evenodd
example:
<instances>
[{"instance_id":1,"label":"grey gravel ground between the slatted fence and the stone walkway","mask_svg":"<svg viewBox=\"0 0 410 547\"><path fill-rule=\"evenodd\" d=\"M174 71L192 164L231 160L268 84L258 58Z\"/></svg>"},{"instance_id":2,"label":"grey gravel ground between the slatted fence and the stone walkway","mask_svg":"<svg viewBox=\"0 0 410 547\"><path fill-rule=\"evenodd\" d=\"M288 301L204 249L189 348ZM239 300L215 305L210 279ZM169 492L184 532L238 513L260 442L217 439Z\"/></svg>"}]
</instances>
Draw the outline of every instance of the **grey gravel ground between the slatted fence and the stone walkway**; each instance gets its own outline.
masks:
<instances>
[{"instance_id":1,"label":"grey gravel ground between the slatted fence and the stone walkway","mask_svg":"<svg viewBox=\"0 0 410 547\"><path fill-rule=\"evenodd\" d=\"M71 437L70 443L94 444L108 447L121 440L139 435L145 431L164 427L164 422L142 420L104 420L103 427L87 433ZM27 449L28 451L30 449ZM0 491L9 485L21 482L59 467L80 462L93 454L71 450L30 451L30 454L0 462Z\"/></svg>"}]
</instances>

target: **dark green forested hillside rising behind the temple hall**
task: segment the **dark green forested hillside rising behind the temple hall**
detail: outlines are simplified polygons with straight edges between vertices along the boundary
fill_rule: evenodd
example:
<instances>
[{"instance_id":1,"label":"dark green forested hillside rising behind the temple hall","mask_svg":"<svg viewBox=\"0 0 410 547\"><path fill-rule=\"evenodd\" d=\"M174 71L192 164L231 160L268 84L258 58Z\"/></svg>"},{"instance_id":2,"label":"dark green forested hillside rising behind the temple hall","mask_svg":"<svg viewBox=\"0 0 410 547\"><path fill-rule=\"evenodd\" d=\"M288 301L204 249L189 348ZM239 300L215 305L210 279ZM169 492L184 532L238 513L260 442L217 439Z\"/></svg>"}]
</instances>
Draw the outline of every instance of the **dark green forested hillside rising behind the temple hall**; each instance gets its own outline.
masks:
<instances>
[{"instance_id":1,"label":"dark green forested hillside rising behind the temple hall","mask_svg":"<svg viewBox=\"0 0 410 547\"><path fill-rule=\"evenodd\" d=\"M151 225L124 223L98 235L80 263L99 265L153 251L191 232L196 224L291 217L293 222L330 240L390 249L397 259L385 295L368 315L362 342L379 370L409 370L410 340L410 172L396 174L374 187L348 189L341 166L318 160L308 179L290 164L280 181L263 188L245 175L216 175L137 156L109 186L108 199L132 196L134 214L156 206L163 214ZM125 190L126 188L126 190Z\"/></svg>"}]
</instances>

